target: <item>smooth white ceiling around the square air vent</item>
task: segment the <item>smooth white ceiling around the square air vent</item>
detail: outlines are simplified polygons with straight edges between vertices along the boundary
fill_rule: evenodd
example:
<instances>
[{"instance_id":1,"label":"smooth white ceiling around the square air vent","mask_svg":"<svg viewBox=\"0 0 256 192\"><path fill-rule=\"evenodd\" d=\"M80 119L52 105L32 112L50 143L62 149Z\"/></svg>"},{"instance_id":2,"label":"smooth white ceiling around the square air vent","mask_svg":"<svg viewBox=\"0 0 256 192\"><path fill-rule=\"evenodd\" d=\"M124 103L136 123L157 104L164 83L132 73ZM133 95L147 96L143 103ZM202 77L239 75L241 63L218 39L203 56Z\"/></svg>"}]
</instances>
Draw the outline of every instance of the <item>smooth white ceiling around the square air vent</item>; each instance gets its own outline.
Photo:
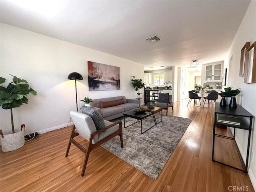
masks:
<instances>
[{"instance_id":1,"label":"smooth white ceiling around the square air vent","mask_svg":"<svg viewBox=\"0 0 256 192\"><path fill-rule=\"evenodd\" d=\"M2 23L156 70L189 66L192 60L200 64L224 60L249 4L247 0L0 0L0 16ZM162 40L145 40L154 35Z\"/></svg>"}]
</instances>

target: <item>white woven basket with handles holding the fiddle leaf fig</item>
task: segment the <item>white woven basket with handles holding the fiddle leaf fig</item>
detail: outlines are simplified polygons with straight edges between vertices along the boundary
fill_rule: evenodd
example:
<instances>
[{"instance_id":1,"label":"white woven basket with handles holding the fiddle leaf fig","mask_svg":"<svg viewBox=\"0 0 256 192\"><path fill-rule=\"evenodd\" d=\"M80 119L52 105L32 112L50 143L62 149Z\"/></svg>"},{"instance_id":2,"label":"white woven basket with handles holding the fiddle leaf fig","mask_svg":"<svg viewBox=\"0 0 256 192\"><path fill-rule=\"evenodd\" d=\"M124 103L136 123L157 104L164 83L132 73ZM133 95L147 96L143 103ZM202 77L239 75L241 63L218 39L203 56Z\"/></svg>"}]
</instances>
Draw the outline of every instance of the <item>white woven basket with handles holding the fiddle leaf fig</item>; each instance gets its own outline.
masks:
<instances>
[{"instance_id":1,"label":"white woven basket with handles holding the fiddle leaf fig","mask_svg":"<svg viewBox=\"0 0 256 192\"><path fill-rule=\"evenodd\" d=\"M6 131L1 134L0 138L3 152L13 151L24 146L24 127L25 125L22 126L21 129L15 130L15 133Z\"/></svg>"}]
</instances>

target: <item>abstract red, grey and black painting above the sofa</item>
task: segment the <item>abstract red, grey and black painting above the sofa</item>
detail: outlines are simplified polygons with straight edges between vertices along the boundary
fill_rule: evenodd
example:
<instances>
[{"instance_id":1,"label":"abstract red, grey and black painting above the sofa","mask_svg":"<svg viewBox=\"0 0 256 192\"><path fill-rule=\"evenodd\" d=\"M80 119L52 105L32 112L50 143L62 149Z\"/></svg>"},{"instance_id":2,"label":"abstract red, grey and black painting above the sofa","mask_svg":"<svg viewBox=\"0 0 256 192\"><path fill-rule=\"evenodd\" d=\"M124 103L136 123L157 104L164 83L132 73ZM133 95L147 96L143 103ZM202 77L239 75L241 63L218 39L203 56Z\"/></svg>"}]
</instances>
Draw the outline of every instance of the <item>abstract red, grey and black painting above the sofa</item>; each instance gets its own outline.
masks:
<instances>
[{"instance_id":1,"label":"abstract red, grey and black painting above the sofa","mask_svg":"<svg viewBox=\"0 0 256 192\"><path fill-rule=\"evenodd\" d=\"M88 61L89 91L120 90L120 68Z\"/></svg>"}]
</instances>

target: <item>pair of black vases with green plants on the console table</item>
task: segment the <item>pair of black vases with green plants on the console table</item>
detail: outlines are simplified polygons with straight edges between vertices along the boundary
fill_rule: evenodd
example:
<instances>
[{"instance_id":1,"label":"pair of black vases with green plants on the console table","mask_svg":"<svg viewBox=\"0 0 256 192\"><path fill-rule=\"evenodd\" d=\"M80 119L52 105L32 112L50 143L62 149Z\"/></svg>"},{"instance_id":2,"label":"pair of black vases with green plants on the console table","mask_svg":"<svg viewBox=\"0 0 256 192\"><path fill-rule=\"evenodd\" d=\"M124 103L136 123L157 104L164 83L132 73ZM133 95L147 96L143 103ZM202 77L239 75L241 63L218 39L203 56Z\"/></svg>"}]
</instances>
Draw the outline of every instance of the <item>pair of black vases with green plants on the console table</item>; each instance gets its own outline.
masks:
<instances>
[{"instance_id":1,"label":"pair of black vases with green plants on the console table","mask_svg":"<svg viewBox=\"0 0 256 192\"><path fill-rule=\"evenodd\" d=\"M232 90L232 87L224 88L225 91L218 93L222 98L220 106L226 106L226 97L231 97L229 107L236 107L236 96L240 93L240 88Z\"/></svg>"}]
</instances>

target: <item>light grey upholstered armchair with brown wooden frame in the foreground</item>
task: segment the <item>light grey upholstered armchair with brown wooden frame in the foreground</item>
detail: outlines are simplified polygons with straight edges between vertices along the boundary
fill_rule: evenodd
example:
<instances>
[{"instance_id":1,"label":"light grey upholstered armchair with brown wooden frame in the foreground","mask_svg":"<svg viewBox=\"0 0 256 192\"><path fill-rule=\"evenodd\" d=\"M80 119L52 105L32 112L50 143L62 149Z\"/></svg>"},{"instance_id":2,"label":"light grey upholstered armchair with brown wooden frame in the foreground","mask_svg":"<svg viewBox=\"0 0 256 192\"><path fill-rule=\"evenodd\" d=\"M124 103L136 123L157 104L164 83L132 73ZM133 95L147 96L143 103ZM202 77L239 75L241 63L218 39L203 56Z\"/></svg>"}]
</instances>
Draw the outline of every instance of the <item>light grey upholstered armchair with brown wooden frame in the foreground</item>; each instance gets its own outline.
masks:
<instances>
[{"instance_id":1,"label":"light grey upholstered armchair with brown wooden frame in the foreground","mask_svg":"<svg viewBox=\"0 0 256 192\"><path fill-rule=\"evenodd\" d=\"M89 107L86 108L86 110L89 110L90 112L88 114L76 111L70 112L70 116L74 122L74 126L65 155L66 157L68 156L71 143L73 143L82 152L84 152L85 158L81 176L84 176L89 154L94 148L100 146L104 142L117 135L120 136L121 147L123 148L122 122L118 121L112 123L103 120L102 116L96 110ZM86 148L84 148L84 146L74 140L74 137L78 135L88 140Z\"/></svg>"}]
</instances>

